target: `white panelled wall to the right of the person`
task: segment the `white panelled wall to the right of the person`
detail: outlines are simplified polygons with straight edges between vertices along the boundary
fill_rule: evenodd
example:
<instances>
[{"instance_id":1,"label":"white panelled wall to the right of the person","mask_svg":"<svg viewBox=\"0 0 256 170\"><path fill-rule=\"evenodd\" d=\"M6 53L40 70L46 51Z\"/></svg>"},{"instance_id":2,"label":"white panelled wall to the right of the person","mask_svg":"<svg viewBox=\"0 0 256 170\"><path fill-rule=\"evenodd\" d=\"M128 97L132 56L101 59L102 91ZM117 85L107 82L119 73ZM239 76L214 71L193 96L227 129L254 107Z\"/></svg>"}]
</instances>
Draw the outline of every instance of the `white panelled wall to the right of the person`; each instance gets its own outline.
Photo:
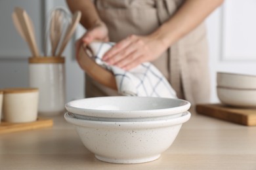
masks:
<instances>
[{"instance_id":1,"label":"white panelled wall to the right of the person","mask_svg":"<svg viewBox=\"0 0 256 170\"><path fill-rule=\"evenodd\" d=\"M212 102L219 101L216 93L218 71L256 75L255 7L255 0L226 0L206 20Z\"/></svg>"}]
</instances>

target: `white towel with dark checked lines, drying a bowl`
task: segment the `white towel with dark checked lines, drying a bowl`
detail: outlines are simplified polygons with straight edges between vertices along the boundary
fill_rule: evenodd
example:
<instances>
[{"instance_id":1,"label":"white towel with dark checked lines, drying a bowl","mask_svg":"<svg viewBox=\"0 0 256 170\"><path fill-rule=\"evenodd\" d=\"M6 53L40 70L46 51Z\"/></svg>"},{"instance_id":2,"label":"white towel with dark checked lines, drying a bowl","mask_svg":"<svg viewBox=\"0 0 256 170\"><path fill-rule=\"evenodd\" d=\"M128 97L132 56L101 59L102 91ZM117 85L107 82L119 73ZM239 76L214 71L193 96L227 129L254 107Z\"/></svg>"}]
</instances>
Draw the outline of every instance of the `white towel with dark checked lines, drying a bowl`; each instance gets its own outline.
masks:
<instances>
[{"instance_id":1,"label":"white towel with dark checked lines, drying a bowl","mask_svg":"<svg viewBox=\"0 0 256 170\"><path fill-rule=\"evenodd\" d=\"M98 65L112 71L116 78L117 90L121 95L177 98L175 90L152 63L142 63L125 71L102 61L102 56L114 46L113 42L92 42L89 51Z\"/></svg>"}]
</instances>

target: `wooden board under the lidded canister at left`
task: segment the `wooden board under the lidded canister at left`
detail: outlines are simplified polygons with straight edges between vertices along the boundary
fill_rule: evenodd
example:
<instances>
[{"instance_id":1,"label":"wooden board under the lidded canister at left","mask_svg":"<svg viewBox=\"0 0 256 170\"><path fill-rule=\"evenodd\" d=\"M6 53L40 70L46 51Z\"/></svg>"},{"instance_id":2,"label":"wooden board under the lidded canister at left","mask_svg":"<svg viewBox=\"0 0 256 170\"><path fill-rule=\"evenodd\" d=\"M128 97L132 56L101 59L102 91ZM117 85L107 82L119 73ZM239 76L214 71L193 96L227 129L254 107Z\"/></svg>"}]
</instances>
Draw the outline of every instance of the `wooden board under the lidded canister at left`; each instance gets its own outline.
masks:
<instances>
[{"instance_id":1,"label":"wooden board under the lidded canister at left","mask_svg":"<svg viewBox=\"0 0 256 170\"><path fill-rule=\"evenodd\" d=\"M52 127L53 120L46 118L38 118L35 122L29 123L9 123L9 122L1 122L0 124L0 134L1 133L11 133L14 131L25 131L32 129L40 129L43 127Z\"/></svg>"}]
</instances>

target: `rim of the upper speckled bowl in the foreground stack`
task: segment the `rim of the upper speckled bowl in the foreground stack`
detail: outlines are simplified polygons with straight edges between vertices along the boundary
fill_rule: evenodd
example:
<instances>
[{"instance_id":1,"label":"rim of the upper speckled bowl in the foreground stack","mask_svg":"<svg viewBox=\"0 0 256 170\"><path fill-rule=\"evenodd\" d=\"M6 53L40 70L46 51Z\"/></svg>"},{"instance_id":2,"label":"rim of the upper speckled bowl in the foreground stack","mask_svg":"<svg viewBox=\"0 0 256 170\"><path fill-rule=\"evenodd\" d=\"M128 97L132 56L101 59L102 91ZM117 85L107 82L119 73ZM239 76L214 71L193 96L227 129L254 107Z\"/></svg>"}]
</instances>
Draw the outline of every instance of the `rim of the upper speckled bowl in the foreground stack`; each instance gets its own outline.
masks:
<instances>
[{"instance_id":1,"label":"rim of the upper speckled bowl in the foreground stack","mask_svg":"<svg viewBox=\"0 0 256 170\"><path fill-rule=\"evenodd\" d=\"M132 96L108 96L108 97L97 97L97 98L124 98L124 97L132 97ZM165 109L152 109L152 110L100 110L100 109L85 109L85 108L77 108L70 105L70 103L82 101L86 99L93 99L96 97L78 99L74 101L70 101L66 103L65 108L68 112L72 112L75 114L85 115L85 116L96 116L100 118L145 118L152 116L167 116L171 114L177 114L180 112L185 112L190 109L190 102L183 99L173 99L173 98L164 98L161 99L169 99L173 101L182 101L184 105L165 108ZM139 98L157 98L157 97L139 97ZM108 114L106 114L108 112ZM129 114L127 114L129 112ZM135 112L132 114L131 112ZM170 113L171 112L171 113Z\"/></svg>"}]
</instances>

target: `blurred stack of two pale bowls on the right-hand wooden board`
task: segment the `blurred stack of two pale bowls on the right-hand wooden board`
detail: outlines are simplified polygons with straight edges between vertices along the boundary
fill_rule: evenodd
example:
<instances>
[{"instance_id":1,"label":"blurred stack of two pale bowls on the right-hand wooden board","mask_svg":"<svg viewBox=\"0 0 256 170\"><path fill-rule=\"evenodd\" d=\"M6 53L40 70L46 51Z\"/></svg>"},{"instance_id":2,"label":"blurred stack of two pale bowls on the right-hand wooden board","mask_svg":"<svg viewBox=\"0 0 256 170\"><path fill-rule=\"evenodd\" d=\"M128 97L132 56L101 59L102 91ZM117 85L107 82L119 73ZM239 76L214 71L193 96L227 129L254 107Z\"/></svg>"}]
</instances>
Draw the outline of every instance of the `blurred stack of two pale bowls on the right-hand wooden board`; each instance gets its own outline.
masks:
<instances>
[{"instance_id":1,"label":"blurred stack of two pale bowls on the right-hand wooden board","mask_svg":"<svg viewBox=\"0 0 256 170\"><path fill-rule=\"evenodd\" d=\"M226 105L256 107L256 76L219 72L217 95Z\"/></svg>"}]
</instances>

